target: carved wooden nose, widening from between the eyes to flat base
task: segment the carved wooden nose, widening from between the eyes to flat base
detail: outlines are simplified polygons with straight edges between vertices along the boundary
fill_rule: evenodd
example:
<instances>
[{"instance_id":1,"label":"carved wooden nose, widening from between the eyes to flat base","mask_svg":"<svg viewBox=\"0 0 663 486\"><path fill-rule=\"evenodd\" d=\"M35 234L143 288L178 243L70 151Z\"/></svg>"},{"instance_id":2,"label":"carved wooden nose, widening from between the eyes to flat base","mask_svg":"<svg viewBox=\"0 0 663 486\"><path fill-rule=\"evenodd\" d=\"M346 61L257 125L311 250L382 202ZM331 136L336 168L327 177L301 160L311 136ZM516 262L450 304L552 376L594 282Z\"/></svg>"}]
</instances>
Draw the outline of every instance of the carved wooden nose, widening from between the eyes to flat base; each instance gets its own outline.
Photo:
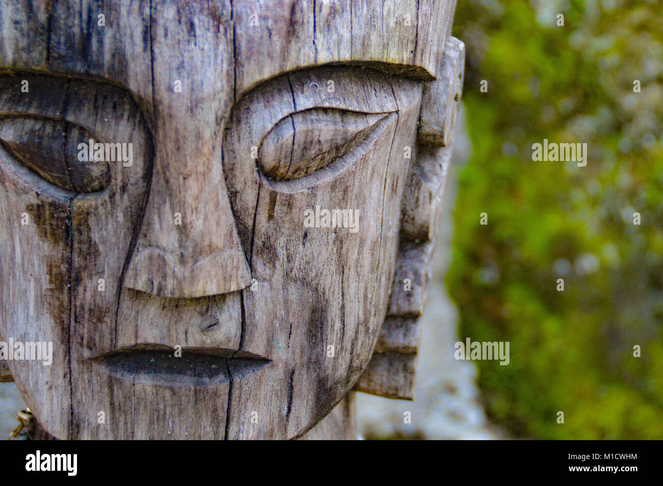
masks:
<instances>
[{"instance_id":1,"label":"carved wooden nose, widening from between the eyes to flat base","mask_svg":"<svg viewBox=\"0 0 663 486\"><path fill-rule=\"evenodd\" d=\"M156 126L152 185L125 287L190 298L251 283L223 178L220 131Z\"/></svg>"}]
</instances>

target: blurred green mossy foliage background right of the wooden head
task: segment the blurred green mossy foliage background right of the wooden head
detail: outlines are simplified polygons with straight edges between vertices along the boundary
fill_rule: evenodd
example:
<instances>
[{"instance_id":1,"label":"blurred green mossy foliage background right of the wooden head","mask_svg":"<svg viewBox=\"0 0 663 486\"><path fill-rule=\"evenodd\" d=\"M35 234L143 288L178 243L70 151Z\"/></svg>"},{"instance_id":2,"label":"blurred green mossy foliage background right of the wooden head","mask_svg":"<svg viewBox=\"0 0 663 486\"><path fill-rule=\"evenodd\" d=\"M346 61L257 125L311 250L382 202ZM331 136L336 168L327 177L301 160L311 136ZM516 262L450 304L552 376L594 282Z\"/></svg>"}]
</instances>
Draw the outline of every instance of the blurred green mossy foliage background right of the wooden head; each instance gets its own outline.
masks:
<instances>
[{"instance_id":1,"label":"blurred green mossy foliage background right of the wooden head","mask_svg":"<svg viewBox=\"0 0 663 486\"><path fill-rule=\"evenodd\" d=\"M511 364L476 362L489 416L663 439L663 2L458 0L453 35L473 154L447 286L460 338L511 342ZM532 162L544 138L586 142L587 166Z\"/></svg>"}]
</instances>

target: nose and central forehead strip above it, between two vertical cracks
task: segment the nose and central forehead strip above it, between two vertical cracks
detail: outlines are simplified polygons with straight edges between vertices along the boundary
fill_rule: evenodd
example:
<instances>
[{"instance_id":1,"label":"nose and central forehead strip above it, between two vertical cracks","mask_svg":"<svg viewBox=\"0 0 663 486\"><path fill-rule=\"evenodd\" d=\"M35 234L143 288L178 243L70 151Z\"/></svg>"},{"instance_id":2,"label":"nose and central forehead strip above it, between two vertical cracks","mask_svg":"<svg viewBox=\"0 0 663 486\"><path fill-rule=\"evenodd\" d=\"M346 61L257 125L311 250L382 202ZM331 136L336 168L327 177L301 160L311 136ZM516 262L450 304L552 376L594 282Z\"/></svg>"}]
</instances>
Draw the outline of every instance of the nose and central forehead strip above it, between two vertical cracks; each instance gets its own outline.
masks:
<instances>
[{"instance_id":1,"label":"nose and central forehead strip above it, between two vertical cracks","mask_svg":"<svg viewBox=\"0 0 663 486\"><path fill-rule=\"evenodd\" d=\"M251 281L220 164L221 121L233 101L230 11L225 3L201 7L155 2L151 10L152 97L158 100L152 183L160 190L147 203L125 285L162 297L219 295Z\"/></svg>"}]
</instances>

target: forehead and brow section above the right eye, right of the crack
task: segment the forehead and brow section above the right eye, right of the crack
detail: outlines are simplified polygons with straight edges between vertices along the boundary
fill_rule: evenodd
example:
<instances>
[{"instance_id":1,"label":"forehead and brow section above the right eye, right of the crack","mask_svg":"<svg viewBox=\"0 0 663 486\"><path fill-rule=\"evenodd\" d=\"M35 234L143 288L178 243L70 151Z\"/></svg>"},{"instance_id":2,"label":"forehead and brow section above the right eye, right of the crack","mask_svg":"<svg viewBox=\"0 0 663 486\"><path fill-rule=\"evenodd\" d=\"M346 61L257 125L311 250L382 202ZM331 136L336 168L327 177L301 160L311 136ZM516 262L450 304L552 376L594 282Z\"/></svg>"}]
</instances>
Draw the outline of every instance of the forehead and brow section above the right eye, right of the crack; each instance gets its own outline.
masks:
<instances>
[{"instance_id":1,"label":"forehead and brow section above the right eye, right of the crack","mask_svg":"<svg viewBox=\"0 0 663 486\"><path fill-rule=\"evenodd\" d=\"M235 92L272 73L371 62L437 77L455 0L235 0Z\"/></svg>"}]
</instances>

